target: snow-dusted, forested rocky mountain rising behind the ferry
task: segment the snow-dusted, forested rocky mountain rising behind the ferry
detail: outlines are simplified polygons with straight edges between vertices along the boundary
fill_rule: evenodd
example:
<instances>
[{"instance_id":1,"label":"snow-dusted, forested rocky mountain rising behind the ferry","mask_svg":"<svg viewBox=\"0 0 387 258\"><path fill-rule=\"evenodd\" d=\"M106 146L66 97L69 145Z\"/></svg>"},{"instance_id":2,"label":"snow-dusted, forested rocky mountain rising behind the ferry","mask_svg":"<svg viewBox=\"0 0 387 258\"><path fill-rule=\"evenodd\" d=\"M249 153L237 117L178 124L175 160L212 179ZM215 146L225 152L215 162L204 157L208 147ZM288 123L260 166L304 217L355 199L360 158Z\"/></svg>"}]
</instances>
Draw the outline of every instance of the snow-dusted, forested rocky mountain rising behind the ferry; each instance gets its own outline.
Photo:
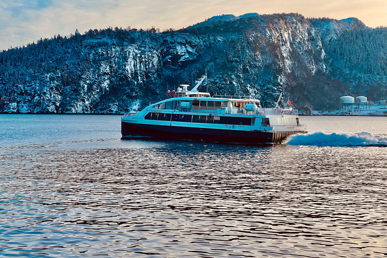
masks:
<instances>
[{"instance_id":1,"label":"snow-dusted, forested rocky mountain rising behind the ferry","mask_svg":"<svg viewBox=\"0 0 387 258\"><path fill-rule=\"evenodd\" d=\"M386 28L356 18L217 16L179 31L90 30L0 52L0 112L123 113L179 84L253 95L271 106L334 109L343 95L387 95Z\"/></svg>"}]
</instances>

